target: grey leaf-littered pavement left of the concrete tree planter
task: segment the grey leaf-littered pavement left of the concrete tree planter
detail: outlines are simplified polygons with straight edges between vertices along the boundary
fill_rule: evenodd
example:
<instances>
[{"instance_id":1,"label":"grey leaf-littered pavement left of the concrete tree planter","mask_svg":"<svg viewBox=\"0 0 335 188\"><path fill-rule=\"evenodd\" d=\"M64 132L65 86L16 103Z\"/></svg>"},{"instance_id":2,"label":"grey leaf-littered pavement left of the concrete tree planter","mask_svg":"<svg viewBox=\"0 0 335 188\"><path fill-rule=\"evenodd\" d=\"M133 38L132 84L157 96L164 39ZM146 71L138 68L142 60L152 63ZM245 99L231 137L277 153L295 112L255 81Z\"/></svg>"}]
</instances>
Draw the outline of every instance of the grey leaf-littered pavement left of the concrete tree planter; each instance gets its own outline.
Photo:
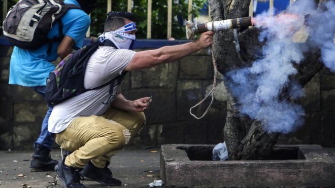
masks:
<instances>
[{"instance_id":1,"label":"grey leaf-littered pavement left of the concrete tree planter","mask_svg":"<svg viewBox=\"0 0 335 188\"><path fill-rule=\"evenodd\" d=\"M30 172L30 159L33 151L0 152L0 187L63 187L57 183L56 173ZM51 157L61 161L59 149L53 149ZM109 168L113 176L122 181L126 188L147 187L159 178L159 148L124 148L112 157ZM107 187L95 181L84 180L87 187Z\"/></svg>"}]
</instances>

